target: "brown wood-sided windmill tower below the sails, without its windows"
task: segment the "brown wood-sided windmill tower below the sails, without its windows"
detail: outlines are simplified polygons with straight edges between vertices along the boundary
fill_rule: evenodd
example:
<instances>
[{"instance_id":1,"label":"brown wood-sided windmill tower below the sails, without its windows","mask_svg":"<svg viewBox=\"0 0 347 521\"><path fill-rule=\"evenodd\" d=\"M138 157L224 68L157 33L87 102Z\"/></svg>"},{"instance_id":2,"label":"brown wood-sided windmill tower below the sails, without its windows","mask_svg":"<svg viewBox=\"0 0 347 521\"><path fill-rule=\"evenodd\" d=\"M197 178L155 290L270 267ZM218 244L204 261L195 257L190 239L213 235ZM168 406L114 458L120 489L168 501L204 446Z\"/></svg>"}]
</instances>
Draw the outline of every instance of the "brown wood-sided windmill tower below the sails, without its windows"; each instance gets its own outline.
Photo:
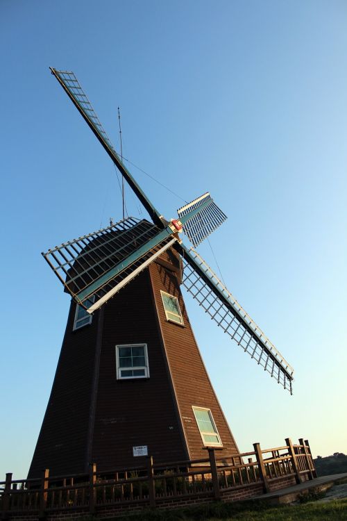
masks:
<instances>
[{"instance_id":1,"label":"brown wood-sided windmill tower below the sails, without its windows","mask_svg":"<svg viewBox=\"0 0 347 521\"><path fill-rule=\"evenodd\" d=\"M211 443L193 407L210 411L217 446L237 454L189 324L181 278L180 258L169 249L75 330L71 301L29 477L42 468L52 475L83 473L90 462L103 470L130 468L145 457L134 456L136 447L156 463L203 458ZM182 324L167 319L166 295L178 299ZM144 345L145 377L119 378L117 346Z\"/></svg>"}]
</instances>

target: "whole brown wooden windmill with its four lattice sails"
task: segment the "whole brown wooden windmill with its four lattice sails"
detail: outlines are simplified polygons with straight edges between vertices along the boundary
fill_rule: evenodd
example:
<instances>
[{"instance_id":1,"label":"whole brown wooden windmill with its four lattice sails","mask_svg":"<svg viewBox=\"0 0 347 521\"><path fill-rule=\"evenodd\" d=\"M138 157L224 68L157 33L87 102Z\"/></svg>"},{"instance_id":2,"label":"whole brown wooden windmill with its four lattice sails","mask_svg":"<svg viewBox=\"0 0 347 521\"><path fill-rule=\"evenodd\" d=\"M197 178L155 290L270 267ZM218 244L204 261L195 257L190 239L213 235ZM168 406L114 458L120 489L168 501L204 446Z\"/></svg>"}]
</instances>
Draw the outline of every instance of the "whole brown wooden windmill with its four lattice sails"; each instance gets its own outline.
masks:
<instances>
[{"instance_id":1,"label":"whole brown wooden windmill with its four lattice sails","mask_svg":"<svg viewBox=\"0 0 347 521\"><path fill-rule=\"evenodd\" d=\"M73 72L51 68L149 213L42 255L71 295L29 477L133 467L238 449L198 351L180 286L291 392L293 369L195 251L226 215L205 193L166 220L121 161ZM193 247L183 244L182 232Z\"/></svg>"}]
</instances>

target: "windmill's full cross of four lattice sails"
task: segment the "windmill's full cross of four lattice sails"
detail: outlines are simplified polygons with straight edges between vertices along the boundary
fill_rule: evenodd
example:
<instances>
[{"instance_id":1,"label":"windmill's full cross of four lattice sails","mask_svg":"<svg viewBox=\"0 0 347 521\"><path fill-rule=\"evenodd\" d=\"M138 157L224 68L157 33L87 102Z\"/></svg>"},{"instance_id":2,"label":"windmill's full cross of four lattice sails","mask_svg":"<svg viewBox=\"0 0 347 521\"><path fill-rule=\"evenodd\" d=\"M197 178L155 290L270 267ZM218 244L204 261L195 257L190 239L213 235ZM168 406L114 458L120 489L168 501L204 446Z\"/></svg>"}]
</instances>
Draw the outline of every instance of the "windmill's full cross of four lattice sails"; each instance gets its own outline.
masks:
<instances>
[{"instance_id":1,"label":"windmill's full cross of four lattice sails","mask_svg":"<svg viewBox=\"0 0 347 521\"><path fill-rule=\"evenodd\" d=\"M217 229L226 215L207 192L179 208L179 220L167 222L146 197L105 133L73 72L51 68L62 88L101 142L154 224L129 217L96 233L67 242L42 254L77 304L92 313L171 246L183 256L183 285L223 331L251 358L291 392L293 369L251 317L239 306L211 268L194 250L181 244L183 231L194 247Z\"/></svg>"}]
</instances>

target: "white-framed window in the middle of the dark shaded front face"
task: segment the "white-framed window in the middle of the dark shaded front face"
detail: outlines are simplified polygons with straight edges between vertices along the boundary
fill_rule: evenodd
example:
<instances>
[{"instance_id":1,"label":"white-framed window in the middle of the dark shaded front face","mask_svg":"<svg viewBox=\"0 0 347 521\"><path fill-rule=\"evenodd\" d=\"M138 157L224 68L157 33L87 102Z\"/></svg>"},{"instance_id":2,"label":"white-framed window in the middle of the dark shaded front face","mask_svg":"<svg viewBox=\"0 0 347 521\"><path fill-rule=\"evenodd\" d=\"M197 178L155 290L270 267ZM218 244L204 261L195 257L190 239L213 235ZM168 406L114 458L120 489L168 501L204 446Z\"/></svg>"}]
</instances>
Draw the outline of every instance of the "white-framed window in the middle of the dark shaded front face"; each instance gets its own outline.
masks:
<instances>
[{"instance_id":1,"label":"white-framed window in the middle of the dark shaded front face","mask_svg":"<svg viewBox=\"0 0 347 521\"><path fill-rule=\"evenodd\" d=\"M147 344L116 345L117 379L149 378Z\"/></svg>"}]
</instances>

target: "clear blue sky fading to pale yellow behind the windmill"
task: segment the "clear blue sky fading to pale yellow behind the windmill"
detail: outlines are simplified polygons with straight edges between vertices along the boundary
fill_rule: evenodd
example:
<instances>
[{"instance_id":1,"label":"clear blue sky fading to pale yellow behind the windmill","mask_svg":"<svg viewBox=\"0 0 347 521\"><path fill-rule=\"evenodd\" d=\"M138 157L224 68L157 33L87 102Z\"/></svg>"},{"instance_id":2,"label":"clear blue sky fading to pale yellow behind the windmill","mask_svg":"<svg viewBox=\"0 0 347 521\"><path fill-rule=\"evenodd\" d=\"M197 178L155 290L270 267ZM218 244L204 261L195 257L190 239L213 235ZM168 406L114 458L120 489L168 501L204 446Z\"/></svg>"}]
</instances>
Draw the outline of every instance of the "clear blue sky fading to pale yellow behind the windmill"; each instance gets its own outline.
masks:
<instances>
[{"instance_id":1,"label":"clear blue sky fading to pale yellow behind the windmill","mask_svg":"<svg viewBox=\"0 0 347 521\"><path fill-rule=\"evenodd\" d=\"M40 252L121 218L50 65L117 148L120 106L124 156L183 198L131 167L167 218L207 190L228 215L210 238L223 279L296 370L291 397L187 297L239 448L347 453L346 27L344 0L0 1L0 480L26 476L67 320Z\"/></svg>"}]
</instances>

